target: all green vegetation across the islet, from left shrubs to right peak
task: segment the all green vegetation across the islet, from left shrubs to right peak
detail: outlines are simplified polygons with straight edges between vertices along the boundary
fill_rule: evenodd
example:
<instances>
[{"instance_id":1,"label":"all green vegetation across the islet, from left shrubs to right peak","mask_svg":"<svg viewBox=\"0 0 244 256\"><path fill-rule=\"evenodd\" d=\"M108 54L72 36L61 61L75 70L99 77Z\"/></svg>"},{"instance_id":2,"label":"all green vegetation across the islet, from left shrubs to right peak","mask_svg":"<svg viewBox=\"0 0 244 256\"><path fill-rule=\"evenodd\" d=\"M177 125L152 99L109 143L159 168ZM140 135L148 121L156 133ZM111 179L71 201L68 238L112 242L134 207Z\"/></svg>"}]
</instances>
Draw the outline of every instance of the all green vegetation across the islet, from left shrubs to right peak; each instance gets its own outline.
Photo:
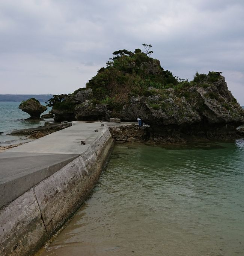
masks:
<instances>
[{"instance_id":1,"label":"all green vegetation across the islet, from left shrubs to right peak","mask_svg":"<svg viewBox=\"0 0 244 256\"><path fill-rule=\"evenodd\" d=\"M107 61L107 66L98 70L98 73L87 82L86 88L75 90L70 97L79 91L91 88L93 99L90 107L101 103L105 104L108 110L116 113L122 110L123 105L128 104L132 96L148 98L158 94L160 100L148 101L148 104L155 110L160 108L165 110L167 108L165 99L169 98L167 89L173 88L176 97L184 96L188 102L198 102L199 93L196 90L189 90L196 86L204 88L207 97L223 102L218 93L209 90L209 87L221 78L221 72L208 72L208 75L196 72L193 81L181 79L169 70L164 70L160 66L160 61L151 58L153 53L151 44L143 44L143 48L143 50L135 49L134 52L126 49L114 51L113 57ZM154 89L148 90L149 87ZM69 99L71 99L69 95L54 95L48 100L47 106L72 110L75 103Z\"/></svg>"}]
</instances>

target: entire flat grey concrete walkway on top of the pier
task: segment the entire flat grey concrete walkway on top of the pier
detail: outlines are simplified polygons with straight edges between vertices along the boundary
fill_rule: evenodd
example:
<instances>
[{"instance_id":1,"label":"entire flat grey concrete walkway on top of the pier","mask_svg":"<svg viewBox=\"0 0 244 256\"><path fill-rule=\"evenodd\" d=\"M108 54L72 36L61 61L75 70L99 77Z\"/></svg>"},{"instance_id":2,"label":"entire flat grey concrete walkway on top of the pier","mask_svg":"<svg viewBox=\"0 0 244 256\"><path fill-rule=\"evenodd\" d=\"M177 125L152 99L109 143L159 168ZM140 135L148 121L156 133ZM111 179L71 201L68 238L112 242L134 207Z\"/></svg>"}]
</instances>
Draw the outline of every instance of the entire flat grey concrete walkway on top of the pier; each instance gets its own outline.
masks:
<instances>
[{"instance_id":1,"label":"entire flat grey concrete walkway on top of the pier","mask_svg":"<svg viewBox=\"0 0 244 256\"><path fill-rule=\"evenodd\" d=\"M71 127L1 152L0 208L86 151L105 129L101 124L74 121Z\"/></svg>"}]
</instances>

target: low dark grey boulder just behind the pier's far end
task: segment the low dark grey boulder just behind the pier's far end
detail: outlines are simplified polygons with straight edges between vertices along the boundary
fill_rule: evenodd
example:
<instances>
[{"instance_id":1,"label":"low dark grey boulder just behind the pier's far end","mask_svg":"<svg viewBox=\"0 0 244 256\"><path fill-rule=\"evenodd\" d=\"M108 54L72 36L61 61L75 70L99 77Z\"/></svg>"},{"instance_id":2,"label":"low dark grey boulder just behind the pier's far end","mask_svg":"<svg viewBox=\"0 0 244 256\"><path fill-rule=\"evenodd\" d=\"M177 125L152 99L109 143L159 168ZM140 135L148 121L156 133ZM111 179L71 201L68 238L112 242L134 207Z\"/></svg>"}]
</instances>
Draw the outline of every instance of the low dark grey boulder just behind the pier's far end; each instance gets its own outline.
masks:
<instances>
[{"instance_id":1,"label":"low dark grey boulder just behind the pier's far end","mask_svg":"<svg viewBox=\"0 0 244 256\"><path fill-rule=\"evenodd\" d=\"M86 100L75 107L75 119L80 121L107 120L108 112L104 104L94 104Z\"/></svg>"}]
</instances>

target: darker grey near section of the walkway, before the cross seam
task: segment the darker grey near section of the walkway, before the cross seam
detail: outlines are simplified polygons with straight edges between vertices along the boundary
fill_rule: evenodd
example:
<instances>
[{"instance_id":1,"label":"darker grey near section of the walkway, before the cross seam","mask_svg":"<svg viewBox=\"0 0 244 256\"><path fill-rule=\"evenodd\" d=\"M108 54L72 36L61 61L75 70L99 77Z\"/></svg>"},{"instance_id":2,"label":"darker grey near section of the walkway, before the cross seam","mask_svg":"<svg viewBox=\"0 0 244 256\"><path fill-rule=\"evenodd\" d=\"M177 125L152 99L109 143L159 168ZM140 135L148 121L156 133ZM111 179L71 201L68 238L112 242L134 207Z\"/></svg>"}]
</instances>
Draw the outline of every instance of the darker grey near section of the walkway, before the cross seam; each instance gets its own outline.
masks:
<instances>
[{"instance_id":1,"label":"darker grey near section of the walkway, before the cross seam","mask_svg":"<svg viewBox=\"0 0 244 256\"><path fill-rule=\"evenodd\" d=\"M73 154L0 153L0 208L76 158Z\"/></svg>"}]
</instances>

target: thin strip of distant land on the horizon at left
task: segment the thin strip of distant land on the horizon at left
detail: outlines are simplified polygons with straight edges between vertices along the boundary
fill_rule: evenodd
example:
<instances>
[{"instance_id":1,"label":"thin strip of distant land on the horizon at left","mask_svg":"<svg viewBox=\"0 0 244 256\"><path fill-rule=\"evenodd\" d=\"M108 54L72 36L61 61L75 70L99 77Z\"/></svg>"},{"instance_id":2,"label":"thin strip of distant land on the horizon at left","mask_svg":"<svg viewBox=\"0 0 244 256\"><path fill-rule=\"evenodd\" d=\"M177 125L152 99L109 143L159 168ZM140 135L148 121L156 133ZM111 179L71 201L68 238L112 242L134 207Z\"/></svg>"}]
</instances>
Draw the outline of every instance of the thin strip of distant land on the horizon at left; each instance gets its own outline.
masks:
<instances>
[{"instance_id":1,"label":"thin strip of distant land on the horizon at left","mask_svg":"<svg viewBox=\"0 0 244 256\"><path fill-rule=\"evenodd\" d=\"M30 98L35 98L39 102L46 102L48 99L53 98L53 94L0 94L0 102L26 101Z\"/></svg>"}]
</instances>

